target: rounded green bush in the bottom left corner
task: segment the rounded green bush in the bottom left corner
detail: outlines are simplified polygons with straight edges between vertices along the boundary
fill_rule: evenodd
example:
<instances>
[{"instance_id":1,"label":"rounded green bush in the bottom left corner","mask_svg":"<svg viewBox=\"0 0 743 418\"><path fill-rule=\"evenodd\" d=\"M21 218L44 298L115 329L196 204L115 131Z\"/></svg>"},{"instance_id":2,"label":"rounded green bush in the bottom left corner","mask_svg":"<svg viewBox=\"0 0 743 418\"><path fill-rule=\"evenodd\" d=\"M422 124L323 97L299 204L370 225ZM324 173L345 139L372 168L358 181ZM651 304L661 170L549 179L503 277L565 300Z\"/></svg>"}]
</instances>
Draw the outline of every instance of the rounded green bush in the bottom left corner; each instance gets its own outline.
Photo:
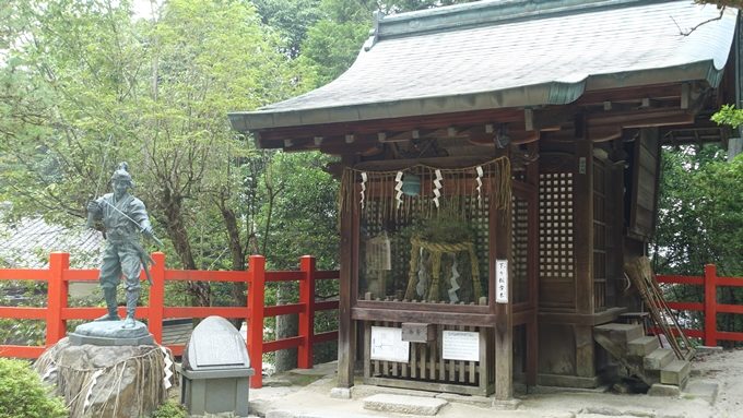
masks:
<instances>
[{"instance_id":1,"label":"rounded green bush in the bottom left corner","mask_svg":"<svg viewBox=\"0 0 743 418\"><path fill-rule=\"evenodd\" d=\"M0 358L0 418L67 417L61 397L47 394L28 362Z\"/></svg>"}]
</instances>

